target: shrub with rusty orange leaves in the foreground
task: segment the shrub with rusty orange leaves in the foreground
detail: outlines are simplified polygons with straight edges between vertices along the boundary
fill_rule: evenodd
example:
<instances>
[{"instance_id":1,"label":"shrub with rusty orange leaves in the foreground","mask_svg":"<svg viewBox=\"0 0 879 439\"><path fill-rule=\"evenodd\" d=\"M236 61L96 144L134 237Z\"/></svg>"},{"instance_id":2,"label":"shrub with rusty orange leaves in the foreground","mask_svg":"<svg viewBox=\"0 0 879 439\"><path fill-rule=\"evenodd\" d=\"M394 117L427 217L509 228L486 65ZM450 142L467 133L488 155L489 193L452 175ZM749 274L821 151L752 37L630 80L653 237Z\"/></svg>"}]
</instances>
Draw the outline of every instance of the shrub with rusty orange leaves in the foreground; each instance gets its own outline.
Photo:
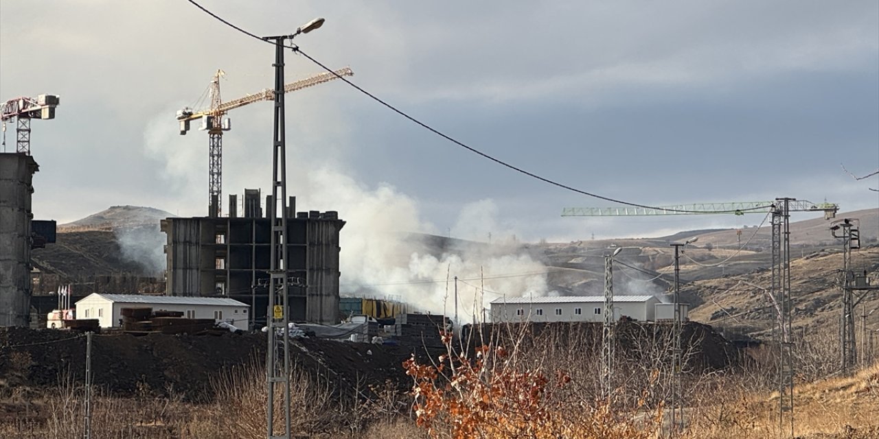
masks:
<instances>
[{"instance_id":1,"label":"shrub with rusty orange leaves in the foreground","mask_svg":"<svg viewBox=\"0 0 879 439\"><path fill-rule=\"evenodd\" d=\"M584 392L557 392L576 385L575 381L561 369L526 367L519 360L518 342L512 349L485 344L476 349L475 358L469 358L465 351L452 349L451 335L444 334L443 340L447 354L439 357L439 363L419 364L414 357L403 363L414 380L418 426L433 438L646 439L654 435L658 415L633 421L634 412L612 409L609 400L589 399Z\"/></svg>"}]
</instances>

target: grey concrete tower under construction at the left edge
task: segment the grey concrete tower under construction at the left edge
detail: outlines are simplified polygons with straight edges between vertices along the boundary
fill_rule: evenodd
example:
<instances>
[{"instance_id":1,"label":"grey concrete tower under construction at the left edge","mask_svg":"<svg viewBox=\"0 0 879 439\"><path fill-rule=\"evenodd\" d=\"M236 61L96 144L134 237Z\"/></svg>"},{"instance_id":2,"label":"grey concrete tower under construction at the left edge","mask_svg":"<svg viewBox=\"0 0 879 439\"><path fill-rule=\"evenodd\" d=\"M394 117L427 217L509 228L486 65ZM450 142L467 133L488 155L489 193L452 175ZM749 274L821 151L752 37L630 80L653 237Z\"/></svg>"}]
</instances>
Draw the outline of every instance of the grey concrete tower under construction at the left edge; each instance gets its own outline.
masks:
<instances>
[{"instance_id":1,"label":"grey concrete tower under construction at the left edge","mask_svg":"<svg viewBox=\"0 0 879 439\"><path fill-rule=\"evenodd\" d=\"M0 154L0 326L26 326L31 299L31 195L40 169L30 155Z\"/></svg>"}]
</instances>

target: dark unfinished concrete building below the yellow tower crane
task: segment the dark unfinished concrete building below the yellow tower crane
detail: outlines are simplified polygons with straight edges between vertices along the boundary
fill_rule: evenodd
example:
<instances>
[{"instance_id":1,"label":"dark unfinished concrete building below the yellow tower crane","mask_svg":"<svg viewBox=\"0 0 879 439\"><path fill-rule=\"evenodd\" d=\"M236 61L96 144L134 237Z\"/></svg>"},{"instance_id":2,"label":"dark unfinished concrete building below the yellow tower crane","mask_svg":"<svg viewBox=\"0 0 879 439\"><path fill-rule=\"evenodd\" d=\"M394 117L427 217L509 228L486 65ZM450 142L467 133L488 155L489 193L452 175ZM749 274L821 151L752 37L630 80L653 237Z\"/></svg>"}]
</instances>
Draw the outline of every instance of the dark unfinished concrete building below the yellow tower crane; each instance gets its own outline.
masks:
<instances>
[{"instance_id":1,"label":"dark unfinished concrete building below the yellow tower crane","mask_svg":"<svg viewBox=\"0 0 879 439\"><path fill-rule=\"evenodd\" d=\"M165 294L229 297L250 302L252 323L265 321L271 219L263 214L258 190L245 190L243 215L236 195L229 196L228 217L168 218ZM270 205L271 197L265 198ZM295 213L287 207L287 279L291 320L338 322L338 212Z\"/></svg>"}]
</instances>

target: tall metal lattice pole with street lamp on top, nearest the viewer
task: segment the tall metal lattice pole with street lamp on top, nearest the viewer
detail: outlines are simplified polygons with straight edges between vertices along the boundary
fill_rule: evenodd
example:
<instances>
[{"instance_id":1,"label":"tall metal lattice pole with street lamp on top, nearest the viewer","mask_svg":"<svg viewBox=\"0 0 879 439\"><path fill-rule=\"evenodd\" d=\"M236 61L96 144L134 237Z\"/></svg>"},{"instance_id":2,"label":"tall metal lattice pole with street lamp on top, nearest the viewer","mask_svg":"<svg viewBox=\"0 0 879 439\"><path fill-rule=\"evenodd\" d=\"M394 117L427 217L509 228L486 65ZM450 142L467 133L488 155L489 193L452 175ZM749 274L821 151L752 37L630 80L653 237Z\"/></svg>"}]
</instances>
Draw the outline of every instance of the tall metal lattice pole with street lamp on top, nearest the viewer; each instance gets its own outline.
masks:
<instances>
[{"instance_id":1,"label":"tall metal lattice pole with street lamp on top, nearest the viewer","mask_svg":"<svg viewBox=\"0 0 879 439\"><path fill-rule=\"evenodd\" d=\"M316 18L296 29L291 35L263 37L275 45L274 135L272 140L272 203L268 207L272 219L272 260L269 266L268 309L265 320L268 327L268 345L265 355L266 429L268 439L290 438L290 344L289 306L287 294L287 144L284 119L284 42L300 33L311 32L323 25ZM280 207L279 207L280 203ZM280 342L276 332L280 330ZM275 386L280 385L284 400L284 429L275 435Z\"/></svg>"}]
</instances>

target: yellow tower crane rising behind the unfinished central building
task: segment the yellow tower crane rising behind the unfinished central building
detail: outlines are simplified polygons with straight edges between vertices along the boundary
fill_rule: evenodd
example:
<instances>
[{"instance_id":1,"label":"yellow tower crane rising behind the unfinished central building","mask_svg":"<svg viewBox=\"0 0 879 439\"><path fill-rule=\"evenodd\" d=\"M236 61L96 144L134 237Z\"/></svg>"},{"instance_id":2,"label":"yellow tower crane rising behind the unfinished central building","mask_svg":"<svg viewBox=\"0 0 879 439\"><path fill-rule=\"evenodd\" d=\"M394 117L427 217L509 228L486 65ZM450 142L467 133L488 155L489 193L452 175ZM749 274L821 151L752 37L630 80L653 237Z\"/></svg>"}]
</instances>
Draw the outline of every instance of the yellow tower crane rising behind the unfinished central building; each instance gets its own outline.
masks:
<instances>
[{"instance_id":1,"label":"yellow tower crane rising behind the unfinished central building","mask_svg":"<svg viewBox=\"0 0 879 439\"><path fill-rule=\"evenodd\" d=\"M177 112L180 123L180 134L189 131L190 122L201 119L200 130L207 131L208 135L208 163L207 163L207 216L218 217L222 212L222 133L231 129L229 118L225 115L229 110L252 104L258 101L274 100L274 90L264 89L244 97L222 102L220 98L220 78L225 75L222 70L217 70L210 84L211 106L205 110L193 111L189 107ZM284 85L284 92L302 90L319 83L327 83L341 76L352 76L351 68L340 68L331 72L322 73L301 79Z\"/></svg>"}]
</instances>

